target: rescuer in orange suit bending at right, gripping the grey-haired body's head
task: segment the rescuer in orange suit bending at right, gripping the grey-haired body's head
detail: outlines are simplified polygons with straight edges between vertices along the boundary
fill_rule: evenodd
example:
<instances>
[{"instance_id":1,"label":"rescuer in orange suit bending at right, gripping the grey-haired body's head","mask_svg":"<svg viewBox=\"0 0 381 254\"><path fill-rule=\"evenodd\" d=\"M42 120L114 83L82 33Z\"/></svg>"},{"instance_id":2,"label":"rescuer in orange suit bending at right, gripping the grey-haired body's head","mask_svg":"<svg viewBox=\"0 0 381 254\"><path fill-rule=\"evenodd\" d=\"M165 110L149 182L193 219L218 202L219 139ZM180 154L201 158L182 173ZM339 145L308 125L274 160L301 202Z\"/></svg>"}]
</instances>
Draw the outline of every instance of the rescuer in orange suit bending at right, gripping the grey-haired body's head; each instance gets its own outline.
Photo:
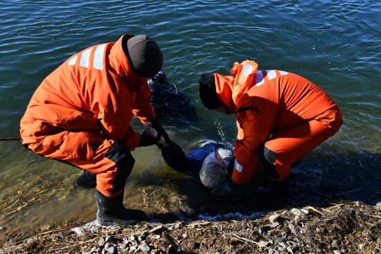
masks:
<instances>
[{"instance_id":1,"label":"rescuer in orange suit bending at right, gripping the grey-haired body's head","mask_svg":"<svg viewBox=\"0 0 381 254\"><path fill-rule=\"evenodd\" d=\"M208 109L236 114L233 174L212 190L220 197L249 183L258 158L269 179L285 179L292 163L342 125L342 111L316 84L286 71L260 71L250 60L236 62L231 75L202 74L200 99Z\"/></svg>"}]
</instances>

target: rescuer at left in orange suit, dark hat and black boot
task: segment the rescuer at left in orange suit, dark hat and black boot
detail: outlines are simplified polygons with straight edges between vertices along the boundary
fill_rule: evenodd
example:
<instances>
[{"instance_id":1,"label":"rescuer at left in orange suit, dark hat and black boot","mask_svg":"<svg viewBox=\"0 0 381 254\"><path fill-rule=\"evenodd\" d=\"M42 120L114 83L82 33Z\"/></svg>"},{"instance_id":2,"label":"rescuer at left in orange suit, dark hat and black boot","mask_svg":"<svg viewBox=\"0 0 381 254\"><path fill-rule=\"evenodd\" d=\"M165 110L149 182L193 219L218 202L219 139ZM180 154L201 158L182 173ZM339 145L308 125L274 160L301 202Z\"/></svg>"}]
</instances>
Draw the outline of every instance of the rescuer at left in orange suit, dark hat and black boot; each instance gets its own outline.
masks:
<instances>
[{"instance_id":1,"label":"rescuer at left in orange suit, dark hat and black boot","mask_svg":"<svg viewBox=\"0 0 381 254\"><path fill-rule=\"evenodd\" d=\"M21 119L28 149L96 174L101 225L147 218L141 210L126 209L123 194L134 166L130 151L169 140L150 107L147 84L162 64L158 44L145 35L91 46L44 79ZM146 125L142 134L130 126L133 116Z\"/></svg>"}]
</instances>

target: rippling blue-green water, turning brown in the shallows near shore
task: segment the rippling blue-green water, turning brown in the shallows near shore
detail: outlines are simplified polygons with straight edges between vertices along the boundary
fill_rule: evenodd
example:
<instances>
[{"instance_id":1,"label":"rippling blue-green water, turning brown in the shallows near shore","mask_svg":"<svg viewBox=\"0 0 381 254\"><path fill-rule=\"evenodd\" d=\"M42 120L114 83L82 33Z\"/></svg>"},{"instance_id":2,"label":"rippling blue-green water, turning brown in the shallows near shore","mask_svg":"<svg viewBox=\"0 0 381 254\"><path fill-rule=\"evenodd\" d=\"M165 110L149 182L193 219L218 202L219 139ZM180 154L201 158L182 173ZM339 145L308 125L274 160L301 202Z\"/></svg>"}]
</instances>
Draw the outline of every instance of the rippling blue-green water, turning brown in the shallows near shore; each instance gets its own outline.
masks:
<instances>
[{"instance_id":1,"label":"rippling blue-green water, turning brown in the shallows near shore","mask_svg":"<svg viewBox=\"0 0 381 254\"><path fill-rule=\"evenodd\" d=\"M380 1L12 0L1 1L0 10L0 138L18 136L26 105L48 73L82 48L123 33L159 43L163 71L194 105L197 123L165 121L186 151L205 138L233 145L234 116L204 109L197 80L203 72L227 75L236 61L303 75L344 112L339 132L296 163L283 185L254 181L229 201L172 172L155 147L136 149L125 193L132 208L168 219L178 211L197 217L381 199ZM36 156L17 141L0 142L0 165L1 242L46 224L94 219L94 191L73 186L80 170Z\"/></svg>"}]
</instances>

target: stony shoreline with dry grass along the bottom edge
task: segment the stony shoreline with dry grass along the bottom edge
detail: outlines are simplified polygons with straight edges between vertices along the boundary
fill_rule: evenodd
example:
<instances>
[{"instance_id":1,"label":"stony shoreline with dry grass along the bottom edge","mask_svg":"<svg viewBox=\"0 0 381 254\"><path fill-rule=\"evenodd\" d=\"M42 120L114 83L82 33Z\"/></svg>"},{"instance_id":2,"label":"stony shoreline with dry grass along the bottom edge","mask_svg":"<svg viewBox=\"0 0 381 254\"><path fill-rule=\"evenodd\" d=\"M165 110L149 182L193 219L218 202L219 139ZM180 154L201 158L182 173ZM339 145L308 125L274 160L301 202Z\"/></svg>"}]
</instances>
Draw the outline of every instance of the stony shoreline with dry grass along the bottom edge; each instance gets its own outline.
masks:
<instances>
[{"instance_id":1,"label":"stony shoreline with dry grass along the bottom edge","mask_svg":"<svg viewBox=\"0 0 381 254\"><path fill-rule=\"evenodd\" d=\"M381 202L277 210L255 219L140 222L100 227L91 221L6 243L5 253L380 253Z\"/></svg>"}]
</instances>

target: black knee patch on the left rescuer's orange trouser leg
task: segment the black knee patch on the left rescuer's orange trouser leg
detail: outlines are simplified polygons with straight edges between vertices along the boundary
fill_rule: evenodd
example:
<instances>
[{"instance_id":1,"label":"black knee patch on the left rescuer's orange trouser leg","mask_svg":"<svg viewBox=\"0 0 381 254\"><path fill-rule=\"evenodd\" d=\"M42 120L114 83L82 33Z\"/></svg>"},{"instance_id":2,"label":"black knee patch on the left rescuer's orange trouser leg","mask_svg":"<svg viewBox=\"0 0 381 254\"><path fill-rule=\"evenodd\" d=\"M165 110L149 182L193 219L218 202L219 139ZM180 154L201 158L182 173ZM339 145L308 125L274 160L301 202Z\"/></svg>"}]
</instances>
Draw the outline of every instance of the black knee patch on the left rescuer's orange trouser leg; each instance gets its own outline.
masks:
<instances>
[{"instance_id":1,"label":"black knee patch on the left rescuer's orange trouser leg","mask_svg":"<svg viewBox=\"0 0 381 254\"><path fill-rule=\"evenodd\" d=\"M112 192L119 192L125 187L125 181L132 172L132 167L135 164L134 157L132 157L130 149L118 140L109 147L105 157L116 164L116 176L112 183Z\"/></svg>"}]
</instances>

